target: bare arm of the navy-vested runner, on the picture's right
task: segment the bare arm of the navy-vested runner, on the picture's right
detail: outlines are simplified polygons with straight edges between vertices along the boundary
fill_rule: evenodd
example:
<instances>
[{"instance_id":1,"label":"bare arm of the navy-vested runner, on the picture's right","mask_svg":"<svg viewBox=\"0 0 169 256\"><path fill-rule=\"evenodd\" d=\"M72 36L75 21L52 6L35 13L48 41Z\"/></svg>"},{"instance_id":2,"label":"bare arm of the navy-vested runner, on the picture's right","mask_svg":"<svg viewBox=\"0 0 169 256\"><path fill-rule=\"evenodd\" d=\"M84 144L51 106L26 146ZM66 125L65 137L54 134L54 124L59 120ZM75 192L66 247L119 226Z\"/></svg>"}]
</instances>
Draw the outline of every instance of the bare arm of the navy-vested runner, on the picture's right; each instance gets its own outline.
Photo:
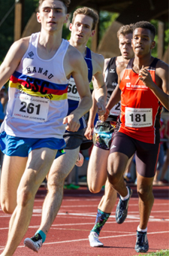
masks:
<instances>
[{"instance_id":1,"label":"bare arm of the navy-vested runner, on the picture's right","mask_svg":"<svg viewBox=\"0 0 169 256\"><path fill-rule=\"evenodd\" d=\"M98 53L92 53L93 76L92 84L95 91L95 99L98 106L98 114L105 113L105 102L107 97L107 88L104 84L104 57Z\"/></svg>"}]
</instances>

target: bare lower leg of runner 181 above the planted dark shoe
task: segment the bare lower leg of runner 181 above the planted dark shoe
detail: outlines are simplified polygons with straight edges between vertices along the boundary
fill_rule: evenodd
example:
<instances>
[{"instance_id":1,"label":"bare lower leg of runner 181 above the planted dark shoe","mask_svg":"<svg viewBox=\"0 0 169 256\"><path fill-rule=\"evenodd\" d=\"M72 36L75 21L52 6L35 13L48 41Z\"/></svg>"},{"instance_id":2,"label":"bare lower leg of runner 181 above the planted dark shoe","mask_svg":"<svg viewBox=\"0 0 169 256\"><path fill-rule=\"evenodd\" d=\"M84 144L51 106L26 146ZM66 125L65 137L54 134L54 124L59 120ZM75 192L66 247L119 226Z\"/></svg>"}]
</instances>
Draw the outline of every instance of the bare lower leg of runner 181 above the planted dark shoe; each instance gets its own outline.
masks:
<instances>
[{"instance_id":1,"label":"bare lower leg of runner 181 above the planted dark shoe","mask_svg":"<svg viewBox=\"0 0 169 256\"><path fill-rule=\"evenodd\" d=\"M152 178L145 178L137 173L137 193L139 196L140 229L145 229L154 203Z\"/></svg>"}]
</instances>

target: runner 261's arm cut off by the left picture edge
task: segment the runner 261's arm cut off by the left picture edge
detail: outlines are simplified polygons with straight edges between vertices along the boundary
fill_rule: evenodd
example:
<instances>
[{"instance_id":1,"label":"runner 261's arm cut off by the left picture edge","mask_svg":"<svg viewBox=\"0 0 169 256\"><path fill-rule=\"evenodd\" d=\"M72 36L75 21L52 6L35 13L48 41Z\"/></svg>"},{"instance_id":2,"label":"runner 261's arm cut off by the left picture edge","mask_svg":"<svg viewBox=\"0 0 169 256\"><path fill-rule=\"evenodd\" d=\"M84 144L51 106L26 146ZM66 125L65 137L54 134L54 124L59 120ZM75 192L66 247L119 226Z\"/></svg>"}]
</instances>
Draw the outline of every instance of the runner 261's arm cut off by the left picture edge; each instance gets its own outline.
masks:
<instances>
[{"instance_id":1,"label":"runner 261's arm cut off by the left picture edge","mask_svg":"<svg viewBox=\"0 0 169 256\"><path fill-rule=\"evenodd\" d=\"M22 38L11 45L11 48L8 50L8 53L0 66L0 89L17 69L28 46L29 38Z\"/></svg>"}]
</instances>

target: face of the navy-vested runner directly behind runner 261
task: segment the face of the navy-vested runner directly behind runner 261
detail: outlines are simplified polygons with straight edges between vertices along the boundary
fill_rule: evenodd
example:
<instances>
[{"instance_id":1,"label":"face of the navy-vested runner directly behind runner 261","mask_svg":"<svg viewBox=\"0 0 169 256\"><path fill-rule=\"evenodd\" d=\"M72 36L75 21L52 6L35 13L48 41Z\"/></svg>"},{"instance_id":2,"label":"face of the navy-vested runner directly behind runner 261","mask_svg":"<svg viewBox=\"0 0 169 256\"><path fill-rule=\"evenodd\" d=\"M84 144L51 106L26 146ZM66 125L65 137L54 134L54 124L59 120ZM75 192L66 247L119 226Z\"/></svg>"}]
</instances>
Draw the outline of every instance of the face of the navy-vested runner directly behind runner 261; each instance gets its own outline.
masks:
<instances>
[{"instance_id":1,"label":"face of the navy-vested runner directly behind runner 261","mask_svg":"<svg viewBox=\"0 0 169 256\"><path fill-rule=\"evenodd\" d=\"M70 24L69 29L71 30L71 39L80 44L86 44L89 37L94 34L92 30L93 20L91 17L84 14L77 14L74 19L74 23Z\"/></svg>"}]
</instances>

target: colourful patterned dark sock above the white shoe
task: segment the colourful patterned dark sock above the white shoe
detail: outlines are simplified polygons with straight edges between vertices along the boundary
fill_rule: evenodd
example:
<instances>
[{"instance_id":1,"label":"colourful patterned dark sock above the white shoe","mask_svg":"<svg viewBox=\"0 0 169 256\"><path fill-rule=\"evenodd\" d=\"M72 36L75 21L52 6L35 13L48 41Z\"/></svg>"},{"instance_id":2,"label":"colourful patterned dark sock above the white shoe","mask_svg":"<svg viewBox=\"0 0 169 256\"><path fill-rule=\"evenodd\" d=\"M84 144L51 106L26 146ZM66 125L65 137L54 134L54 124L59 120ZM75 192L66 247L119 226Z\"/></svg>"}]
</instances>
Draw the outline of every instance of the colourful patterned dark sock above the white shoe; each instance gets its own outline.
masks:
<instances>
[{"instance_id":1,"label":"colourful patterned dark sock above the white shoe","mask_svg":"<svg viewBox=\"0 0 169 256\"><path fill-rule=\"evenodd\" d=\"M95 219L95 226L92 228L91 232L96 232L99 236L101 228L104 226L109 216L110 213L102 212L101 210L98 209L98 213Z\"/></svg>"}]
</instances>

